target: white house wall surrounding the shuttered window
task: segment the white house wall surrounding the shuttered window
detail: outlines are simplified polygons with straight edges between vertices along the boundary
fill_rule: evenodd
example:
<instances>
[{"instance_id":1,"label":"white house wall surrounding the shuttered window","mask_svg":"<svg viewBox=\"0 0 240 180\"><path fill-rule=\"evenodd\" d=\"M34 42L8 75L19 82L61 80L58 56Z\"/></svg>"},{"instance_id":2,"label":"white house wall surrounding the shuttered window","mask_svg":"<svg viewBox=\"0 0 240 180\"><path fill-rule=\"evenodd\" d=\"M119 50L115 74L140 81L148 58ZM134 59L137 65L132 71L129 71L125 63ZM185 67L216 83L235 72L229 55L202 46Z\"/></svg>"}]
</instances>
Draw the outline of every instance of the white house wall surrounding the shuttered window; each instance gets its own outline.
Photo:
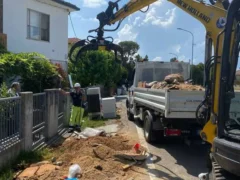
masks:
<instances>
[{"instance_id":1,"label":"white house wall surrounding the shuttered window","mask_svg":"<svg viewBox=\"0 0 240 180\"><path fill-rule=\"evenodd\" d=\"M50 42L27 38L27 9L50 15ZM3 33L9 51L38 52L52 60L67 60L68 11L36 0L3 0Z\"/></svg>"}]
</instances>

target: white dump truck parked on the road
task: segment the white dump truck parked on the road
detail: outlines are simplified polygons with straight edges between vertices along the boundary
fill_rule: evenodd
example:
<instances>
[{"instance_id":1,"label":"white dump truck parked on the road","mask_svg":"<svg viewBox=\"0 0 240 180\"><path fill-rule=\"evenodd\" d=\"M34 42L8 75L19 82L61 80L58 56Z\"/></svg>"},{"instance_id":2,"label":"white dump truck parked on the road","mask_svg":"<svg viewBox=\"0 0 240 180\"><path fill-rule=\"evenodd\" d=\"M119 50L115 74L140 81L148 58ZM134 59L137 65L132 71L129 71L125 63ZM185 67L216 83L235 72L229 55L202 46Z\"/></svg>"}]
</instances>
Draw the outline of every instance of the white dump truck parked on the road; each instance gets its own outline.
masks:
<instances>
[{"instance_id":1,"label":"white dump truck parked on the road","mask_svg":"<svg viewBox=\"0 0 240 180\"><path fill-rule=\"evenodd\" d=\"M144 136L148 142L168 136L200 137L202 125L196 109L204 99L204 90L171 90L139 88L139 82L163 81L169 74L179 73L189 79L190 65L181 62L137 63L132 87L126 101L129 120L144 122ZM240 107L240 96L235 98ZM236 111L236 108L234 111ZM239 108L238 108L239 109ZM240 112L240 109L238 110ZM155 136L158 132L158 136Z\"/></svg>"}]
</instances>

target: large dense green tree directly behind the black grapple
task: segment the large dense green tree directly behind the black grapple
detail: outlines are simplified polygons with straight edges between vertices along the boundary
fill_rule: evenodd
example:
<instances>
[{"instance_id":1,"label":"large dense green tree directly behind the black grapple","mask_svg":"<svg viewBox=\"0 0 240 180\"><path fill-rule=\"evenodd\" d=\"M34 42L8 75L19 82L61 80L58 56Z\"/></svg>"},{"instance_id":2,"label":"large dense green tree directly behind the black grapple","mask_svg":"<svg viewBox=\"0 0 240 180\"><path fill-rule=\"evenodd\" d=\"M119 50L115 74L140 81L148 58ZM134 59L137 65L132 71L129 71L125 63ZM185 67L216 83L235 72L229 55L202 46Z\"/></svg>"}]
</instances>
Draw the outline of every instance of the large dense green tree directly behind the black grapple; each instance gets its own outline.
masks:
<instances>
[{"instance_id":1,"label":"large dense green tree directly behind the black grapple","mask_svg":"<svg viewBox=\"0 0 240 180\"><path fill-rule=\"evenodd\" d=\"M115 86L126 70L120 62L116 62L114 54L107 51L88 51L83 53L76 63L69 63L69 72L73 81L82 86L102 84Z\"/></svg>"}]
</instances>

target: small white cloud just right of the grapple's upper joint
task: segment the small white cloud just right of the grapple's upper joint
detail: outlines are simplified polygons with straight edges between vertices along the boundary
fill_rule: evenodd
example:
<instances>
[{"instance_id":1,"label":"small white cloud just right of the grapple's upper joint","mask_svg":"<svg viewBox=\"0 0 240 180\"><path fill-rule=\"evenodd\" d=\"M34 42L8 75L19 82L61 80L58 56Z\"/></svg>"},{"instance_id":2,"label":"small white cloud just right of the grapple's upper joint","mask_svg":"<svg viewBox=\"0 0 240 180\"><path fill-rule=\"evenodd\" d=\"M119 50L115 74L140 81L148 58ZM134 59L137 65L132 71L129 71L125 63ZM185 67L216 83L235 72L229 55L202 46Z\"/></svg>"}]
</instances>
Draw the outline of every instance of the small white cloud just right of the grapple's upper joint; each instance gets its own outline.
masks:
<instances>
[{"instance_id":1,"label":"small white cloud just right of the grapple's upper joint","mask_svg":"<svg viewBox=\"0 0 240 180\"><path fill-rule=\"evenodd\" d=\"M114 40L115 43L119 43L121 41L135 41L138 33L133 31L133 26L129 24L125 24L124 27L118 31L118 37Z\"/></svg>"}]
</instances>

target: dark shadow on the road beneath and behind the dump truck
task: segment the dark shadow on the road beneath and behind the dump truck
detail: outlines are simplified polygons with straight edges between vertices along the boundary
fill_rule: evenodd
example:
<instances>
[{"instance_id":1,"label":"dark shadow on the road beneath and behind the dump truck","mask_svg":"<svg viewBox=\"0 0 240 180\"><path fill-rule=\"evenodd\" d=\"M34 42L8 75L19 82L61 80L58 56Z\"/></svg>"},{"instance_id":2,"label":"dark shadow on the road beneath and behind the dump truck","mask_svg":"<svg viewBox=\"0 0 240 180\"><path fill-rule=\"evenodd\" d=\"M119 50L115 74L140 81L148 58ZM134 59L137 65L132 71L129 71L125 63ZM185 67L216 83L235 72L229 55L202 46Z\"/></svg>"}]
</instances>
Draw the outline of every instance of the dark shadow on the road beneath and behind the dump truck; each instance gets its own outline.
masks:
<instances>
[{"instance_id":1,"label":"dark shadow on the road beneath and behind the dump truck","mask_svg":"<svg viewBox=\"0 0 240 180\"><path fill-rule=\"evenodd\" d=\"M143 127L143 122L139 120L135 120L135 125L139 128ZM198 175L202 172L208 172L207 169L207 156L208 156L208 147L204 144L199 143L201 142L200 138L197 140L197 144L194 143L190 146L184 143L183 138L168 138L168 139L161 139L161 142L156 142L154 144L149 145L150 151L154 149L154 152L157 152L158 149L164 149L170 156L172 156L176 160L176 164L179 166L183 166L186 169L189 175L198 177ZM156 156L156 155L155 155ZM161 154L159 153L159 156ZM159 161L152 161L155 166L161 166L162 168L167 169L169 172L173 173L173 169L170 170L162 163L158 163ZM157 167L156 167L157 168ZM164 172L156 172L155 169L150 169L153 171L153 174L162 175L162 177L169 176ZM178 178L174 177L167 177L173 180L180 180L181 178L175 175Z\"/></svg>"}]
</instances>

